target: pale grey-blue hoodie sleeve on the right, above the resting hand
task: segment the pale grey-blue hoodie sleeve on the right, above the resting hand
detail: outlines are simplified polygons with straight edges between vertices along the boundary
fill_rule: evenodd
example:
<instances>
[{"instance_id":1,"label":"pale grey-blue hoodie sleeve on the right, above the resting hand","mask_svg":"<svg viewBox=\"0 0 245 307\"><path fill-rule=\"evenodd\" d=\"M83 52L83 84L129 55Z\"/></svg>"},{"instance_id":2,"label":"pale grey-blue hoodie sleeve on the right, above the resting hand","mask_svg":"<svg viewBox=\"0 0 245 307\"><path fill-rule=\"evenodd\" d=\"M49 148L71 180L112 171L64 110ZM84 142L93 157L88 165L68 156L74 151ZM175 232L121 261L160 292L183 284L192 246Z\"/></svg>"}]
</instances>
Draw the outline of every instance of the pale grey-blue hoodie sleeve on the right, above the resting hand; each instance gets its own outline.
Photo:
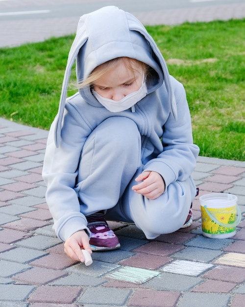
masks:
<instances>
[{"instance_id":1,"label":"pale grey-blue hoodie sleeve on the right, above the resting hand","mask_svg":"<svg viewBox=\"0 0 245 307\"><path fill-rule=\"evenodd\" d=\"M171 77L172 78L172 77ZM177 105L177 120L170 115L164 124L163 152L147 162L144 171L155 171L165 180L166 189L172 182L184 181L196 167L199 148L193 144L190 110L183 85L172 78Z\"/></svg>"}]
</instances>

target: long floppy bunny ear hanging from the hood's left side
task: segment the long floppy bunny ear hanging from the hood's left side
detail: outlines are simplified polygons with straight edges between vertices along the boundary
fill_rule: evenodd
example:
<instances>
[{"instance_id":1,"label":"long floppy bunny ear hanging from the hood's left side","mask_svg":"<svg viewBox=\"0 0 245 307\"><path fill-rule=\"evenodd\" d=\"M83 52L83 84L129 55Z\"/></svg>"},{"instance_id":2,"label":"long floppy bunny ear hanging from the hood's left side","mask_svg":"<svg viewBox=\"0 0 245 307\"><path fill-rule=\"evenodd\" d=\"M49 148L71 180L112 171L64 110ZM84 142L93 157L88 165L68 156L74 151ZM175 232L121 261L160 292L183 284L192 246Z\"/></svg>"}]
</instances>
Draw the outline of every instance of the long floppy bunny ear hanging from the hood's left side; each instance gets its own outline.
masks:
<instances>
[{"instance_id":1,"label":"long floppy bunny ear hanging from the hood's left side","mask_svg":"<svg viewBox=\"0 0 245 307\"><path fill-rule=\"evenodd\" d=\"M83 20L80 19L79 23L81 21L83 22ZM73 41L73 45L68 55L67 66L65 70L65 75L64 75L62 90L61 90L61 95L60 95L59 109L56 115L56 123L54 127L54 142L55 142L56 148L59 147L60 141L61 141L62 121L63 121L63 115L64 115L64 110L65 110L66 98L67 98L68 84L69 84L69 80L70 80L71 73L72 73L72 67L73 67L75 58L79 50L81 49L81 47L85 44L85 42L88 39L88 37L85 35L84 27L81 28L81 26L79 26L78 24L78 29L79 28L80 28L80 31L76 34L76 37Z\"/></svg>"}]
</instances>

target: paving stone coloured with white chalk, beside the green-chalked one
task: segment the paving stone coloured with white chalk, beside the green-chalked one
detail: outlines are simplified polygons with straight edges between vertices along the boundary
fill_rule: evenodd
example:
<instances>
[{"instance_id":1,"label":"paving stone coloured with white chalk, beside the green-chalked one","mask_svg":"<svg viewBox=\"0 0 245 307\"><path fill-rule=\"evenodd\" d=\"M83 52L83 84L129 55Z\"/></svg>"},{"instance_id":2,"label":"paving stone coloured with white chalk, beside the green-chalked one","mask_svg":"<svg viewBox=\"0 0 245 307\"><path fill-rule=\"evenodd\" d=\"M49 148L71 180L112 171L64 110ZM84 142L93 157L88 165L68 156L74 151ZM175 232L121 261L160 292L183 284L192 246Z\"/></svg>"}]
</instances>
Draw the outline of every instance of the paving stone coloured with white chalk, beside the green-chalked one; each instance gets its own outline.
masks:
<instances>
[{"instance_id":1,"label":"paving stone coloured with white chalk, beside the green-chalked one","mask_svg":"<svg viewBox=\"0 0 245 307\"><path fill-rule=\"evenodd\" d=\"M172 263L166 265L162 271L183 274L189 276L198 276L204 273L206 270L211 269L212 264L188 261L188 260L175 260Z\"/></svg>"}]
</instances>

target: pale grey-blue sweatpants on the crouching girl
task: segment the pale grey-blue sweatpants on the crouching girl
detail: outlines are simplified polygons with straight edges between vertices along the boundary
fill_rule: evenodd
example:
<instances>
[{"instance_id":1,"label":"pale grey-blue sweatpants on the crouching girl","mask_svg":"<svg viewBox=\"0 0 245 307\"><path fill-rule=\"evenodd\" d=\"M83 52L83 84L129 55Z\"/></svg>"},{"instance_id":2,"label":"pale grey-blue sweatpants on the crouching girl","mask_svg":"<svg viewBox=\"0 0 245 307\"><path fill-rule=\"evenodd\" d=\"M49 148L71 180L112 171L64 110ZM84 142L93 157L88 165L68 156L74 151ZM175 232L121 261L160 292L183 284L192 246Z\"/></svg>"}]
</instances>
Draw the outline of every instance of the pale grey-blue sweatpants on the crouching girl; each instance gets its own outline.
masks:
<instances>
[{"instance_id":1,"label":"pale grey-blue sweatpants on the crouching girl","mask_svg":"<svg viewBox=\"0 0 245 307\"><path fill-rule=\"evenodd\" d=\"M172 182L155 200L137 194L132 186L144 169L141 154L137 125L125 117L106 119L83 147L76 191L83 214L106 210L107 220L135 223L153 239L183 226L196 187L189 177Z\"/></svg>"}]
</instances>

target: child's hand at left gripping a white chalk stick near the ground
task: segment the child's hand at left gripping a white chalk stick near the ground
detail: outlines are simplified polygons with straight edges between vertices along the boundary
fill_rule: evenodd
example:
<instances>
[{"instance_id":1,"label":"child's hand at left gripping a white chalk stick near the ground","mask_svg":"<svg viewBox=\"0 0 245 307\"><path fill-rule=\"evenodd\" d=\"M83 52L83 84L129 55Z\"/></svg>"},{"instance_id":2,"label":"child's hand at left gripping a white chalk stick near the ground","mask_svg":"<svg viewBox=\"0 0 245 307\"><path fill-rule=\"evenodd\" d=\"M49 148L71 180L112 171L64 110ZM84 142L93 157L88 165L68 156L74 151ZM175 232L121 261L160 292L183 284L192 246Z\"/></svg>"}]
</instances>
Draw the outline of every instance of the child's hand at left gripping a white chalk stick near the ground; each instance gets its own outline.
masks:
<instances>
[{"instance_id":1,"label":"child's hand at left gripping a white chalk stick near the ground","mask_svg":"<svg viewBox=\"0 0 245 307\"><path fill-rule=\"evenodd\" d=\"M81 252L81 248L87 250L92 254L91 247L89 245L89 237L85 230L79 230L66 240L64 244L65 253L76 261L84 262L84 256Z\"/></svg>"}]
</instances>

